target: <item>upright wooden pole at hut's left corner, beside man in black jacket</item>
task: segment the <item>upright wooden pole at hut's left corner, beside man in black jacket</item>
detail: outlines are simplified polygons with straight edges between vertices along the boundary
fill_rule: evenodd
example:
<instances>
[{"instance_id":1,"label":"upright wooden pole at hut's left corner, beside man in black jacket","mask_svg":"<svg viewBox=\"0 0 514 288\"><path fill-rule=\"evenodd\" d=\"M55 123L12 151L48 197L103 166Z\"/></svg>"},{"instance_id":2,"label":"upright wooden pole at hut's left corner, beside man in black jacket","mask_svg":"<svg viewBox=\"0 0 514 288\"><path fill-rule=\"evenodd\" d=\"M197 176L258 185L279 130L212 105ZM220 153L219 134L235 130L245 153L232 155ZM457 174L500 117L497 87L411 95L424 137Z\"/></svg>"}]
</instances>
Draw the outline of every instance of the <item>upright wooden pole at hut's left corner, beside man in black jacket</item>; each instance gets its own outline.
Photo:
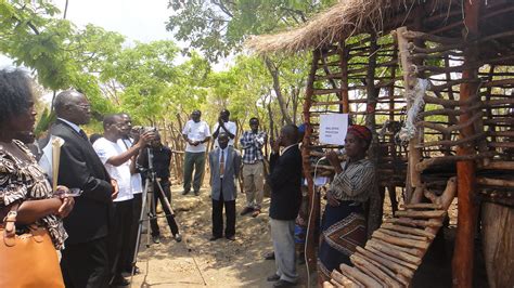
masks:
<instances>
[{"instance_id":1,"label":"upright wooden pole at hut's left corner, beside man in black jacket","mask_svg":"<svg viewBox=\"0 0 514 288\"><path fill-rule=\"evenodd\" d=\"M312 95L314 90L314 78L316 71L318 70L318 63L321 56L321 52L319 50L314 50L312 52L312 64L310 67L309 78L306 88L306 95L304 102L304 121L306 122L306 130L301 145L301 158L303 158L303 168L304 168L304 176L307 180L308 193L309 193L309 233L307 234L307 247L306 247L306 257L307 262L309 264L310 271L316 269L316 225L318 223L317 219L319 217L319 202L320 198L316 193L314 182L312 180L312 175L310 173L310 135L312 134L312 126L310 125L310 107L312 105ZM312 208L312 209L311 209ZM310 272L309 272L310 273Z\"/></svg>"}]
</instances>

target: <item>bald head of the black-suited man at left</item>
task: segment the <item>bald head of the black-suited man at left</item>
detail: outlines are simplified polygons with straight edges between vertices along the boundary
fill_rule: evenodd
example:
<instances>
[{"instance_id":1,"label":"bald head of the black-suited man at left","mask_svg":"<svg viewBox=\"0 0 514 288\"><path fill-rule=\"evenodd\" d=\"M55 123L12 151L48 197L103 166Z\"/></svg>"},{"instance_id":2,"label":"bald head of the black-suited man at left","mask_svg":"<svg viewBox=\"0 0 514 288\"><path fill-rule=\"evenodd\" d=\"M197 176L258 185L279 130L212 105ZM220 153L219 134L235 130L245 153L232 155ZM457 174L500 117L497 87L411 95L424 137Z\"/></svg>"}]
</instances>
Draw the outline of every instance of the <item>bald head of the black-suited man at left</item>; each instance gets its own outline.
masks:
<instances>
[{"instance_id":1,"label":"bald head of the black-suited man at left","mask_svg":"<svg viewBox=\"0 0 514 288\"><path fill-rule=\"evenodd\" d=\"M76 90L65 90L59 93L53 102L53 107L59 118L75 125L87 125L91 118L88 100Z\"/></svg>"}]
</instances>

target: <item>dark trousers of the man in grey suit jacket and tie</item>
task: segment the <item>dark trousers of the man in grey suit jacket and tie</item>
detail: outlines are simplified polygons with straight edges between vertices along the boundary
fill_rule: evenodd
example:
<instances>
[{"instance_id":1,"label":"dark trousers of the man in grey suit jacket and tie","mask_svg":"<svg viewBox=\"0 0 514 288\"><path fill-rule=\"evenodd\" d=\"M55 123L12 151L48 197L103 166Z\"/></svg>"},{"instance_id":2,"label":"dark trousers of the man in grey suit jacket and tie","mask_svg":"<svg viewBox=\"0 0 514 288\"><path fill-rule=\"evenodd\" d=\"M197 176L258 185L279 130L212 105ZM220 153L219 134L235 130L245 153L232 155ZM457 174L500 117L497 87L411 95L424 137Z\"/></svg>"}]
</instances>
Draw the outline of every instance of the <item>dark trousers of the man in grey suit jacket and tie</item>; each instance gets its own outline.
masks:
<instances>
[{"instance_id":1,"label":"dark trousers of the man in grey suit jacket and tie","mask_svg":"<svg viewBox=\"0 0 514 288\"><path fill-rule=\"evenodd\" d=\"M221 181L221 187L222 185ZM231 237L235 235L235 200L224 201L223 191L221 188L219 199L213 199L213 236L221 237L223 234L223 206L224 217L227 219L227 226L224 228L224 236Z\"/></svg>"}]
</instances>

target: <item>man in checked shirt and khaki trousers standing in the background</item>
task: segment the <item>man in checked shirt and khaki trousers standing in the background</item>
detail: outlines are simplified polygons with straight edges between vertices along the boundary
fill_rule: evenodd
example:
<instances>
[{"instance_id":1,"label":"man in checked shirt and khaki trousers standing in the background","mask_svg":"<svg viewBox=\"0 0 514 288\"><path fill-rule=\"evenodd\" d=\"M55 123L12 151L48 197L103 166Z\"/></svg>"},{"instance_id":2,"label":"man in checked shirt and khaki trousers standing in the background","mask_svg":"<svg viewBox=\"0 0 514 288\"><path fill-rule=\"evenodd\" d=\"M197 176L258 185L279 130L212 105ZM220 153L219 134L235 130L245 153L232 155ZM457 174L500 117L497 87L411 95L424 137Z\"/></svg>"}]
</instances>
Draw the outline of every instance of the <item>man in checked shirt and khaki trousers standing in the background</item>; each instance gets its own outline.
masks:
<instances>
[{"instance_id":1,"label":"man in checked shirt and khaki trousers standing in the background","mask_svg":"<svg viewBox=\"0 0 514 288\"><path fill-rule=\"evenodd\" d=\"M246 207L241 212L245 215L249 212L252 217L260 214L262 205L265 172L262 147L268 136L259 131L259 119L249 119L250 131L245 131L241 136L240 144L243 150L243 182L246 194Z\"/></svg>"}]
</instances>

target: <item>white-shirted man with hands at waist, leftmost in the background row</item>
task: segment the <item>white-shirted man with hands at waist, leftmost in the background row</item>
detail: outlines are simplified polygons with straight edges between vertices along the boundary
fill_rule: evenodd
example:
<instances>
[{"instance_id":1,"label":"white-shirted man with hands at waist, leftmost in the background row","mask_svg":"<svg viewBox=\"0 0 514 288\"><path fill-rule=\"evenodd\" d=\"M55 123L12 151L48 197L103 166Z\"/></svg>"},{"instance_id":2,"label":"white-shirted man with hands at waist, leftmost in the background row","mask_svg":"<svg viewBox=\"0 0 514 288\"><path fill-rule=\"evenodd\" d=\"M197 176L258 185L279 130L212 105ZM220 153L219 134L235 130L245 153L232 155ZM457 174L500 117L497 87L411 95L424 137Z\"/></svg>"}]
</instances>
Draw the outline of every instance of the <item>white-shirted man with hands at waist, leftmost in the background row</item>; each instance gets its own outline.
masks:
<instances>
[{"instance_id":1,"label":"white-shirted man with hands at waist, leftmost in the background row","mask_svg":"<svg viewBox=\"0 0 514 288\"><path fill-rule=\"evenodd\" d=\"M200 195L200 185L202 184L202 176L205 169L205 150L207 143L210 140L209 126L201 120L202 113L194 110L191 114L184 129L182 136L184 138L185 155L184 155L184 191L182 195L187 195L191 191L191 176L194 170L193 191L194 195Z\"/></svg>"}]
</instances>

